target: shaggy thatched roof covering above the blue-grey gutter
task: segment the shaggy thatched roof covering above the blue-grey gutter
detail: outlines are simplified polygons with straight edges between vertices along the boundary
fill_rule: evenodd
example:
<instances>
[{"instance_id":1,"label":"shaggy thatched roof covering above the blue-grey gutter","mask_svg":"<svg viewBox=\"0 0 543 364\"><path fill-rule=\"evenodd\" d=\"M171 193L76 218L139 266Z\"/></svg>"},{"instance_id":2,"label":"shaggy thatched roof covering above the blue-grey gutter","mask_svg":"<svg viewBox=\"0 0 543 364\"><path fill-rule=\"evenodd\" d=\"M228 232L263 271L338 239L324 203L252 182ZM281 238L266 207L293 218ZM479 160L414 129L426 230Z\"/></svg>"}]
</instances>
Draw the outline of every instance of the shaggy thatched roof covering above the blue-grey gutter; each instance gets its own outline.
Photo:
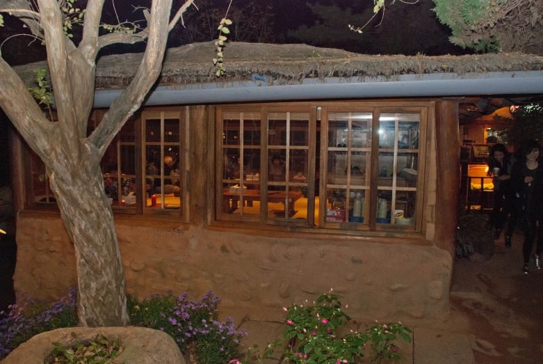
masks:
<instances>
[{"instance_id":1,"label":"shaggy thatched roof covering above the blue-grey gutter","mask_svg":"<svg viewBox=\"0 0 543 364\"><path fill-rule=\"evenodd\" d=\"M252 74L268 76L276 84L298 84L305 78L386 77L403 74L520 72L543 70L543 57L529 54L480 54L467 56L369 56L309 45L270 45L229 42L224 49L227 77L218 79L212 58L213 42L168 49L160 84L202 84L250 80ZM126 86L138 69L142 54L104 56L97 62L96 86ZM15 68L25 82L32 70L45 62Z\"/></svg>"}]
</instances>

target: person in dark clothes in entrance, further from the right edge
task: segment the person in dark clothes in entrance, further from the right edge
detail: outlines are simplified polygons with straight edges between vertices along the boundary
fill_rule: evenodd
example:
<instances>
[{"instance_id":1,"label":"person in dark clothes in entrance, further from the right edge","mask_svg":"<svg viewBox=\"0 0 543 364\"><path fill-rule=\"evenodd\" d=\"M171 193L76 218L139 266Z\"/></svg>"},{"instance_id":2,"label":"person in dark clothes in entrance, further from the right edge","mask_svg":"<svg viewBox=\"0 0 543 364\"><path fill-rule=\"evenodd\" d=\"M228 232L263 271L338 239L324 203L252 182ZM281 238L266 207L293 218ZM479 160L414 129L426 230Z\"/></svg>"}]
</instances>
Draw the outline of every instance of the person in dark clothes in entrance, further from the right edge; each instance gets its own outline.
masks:
<instances>
[{"instance_id":1,"label":"person in dark clothes in entrance, further from the right edge","mask_svg":"<svg viewBox=\"0 0 543 364\"><path fill-rule=\"evenodd\" d=\"M505 145L498 143L492 146L488 160L488 173L494 175L494 208L490 216L490 223L494 232L494 239L499 239L505 220L512 215L505 232L505 246L511 246L511 235L514 229L514 199L512 199L512 187L510 184L510 156Z\"/></svg>"}]
</instances>

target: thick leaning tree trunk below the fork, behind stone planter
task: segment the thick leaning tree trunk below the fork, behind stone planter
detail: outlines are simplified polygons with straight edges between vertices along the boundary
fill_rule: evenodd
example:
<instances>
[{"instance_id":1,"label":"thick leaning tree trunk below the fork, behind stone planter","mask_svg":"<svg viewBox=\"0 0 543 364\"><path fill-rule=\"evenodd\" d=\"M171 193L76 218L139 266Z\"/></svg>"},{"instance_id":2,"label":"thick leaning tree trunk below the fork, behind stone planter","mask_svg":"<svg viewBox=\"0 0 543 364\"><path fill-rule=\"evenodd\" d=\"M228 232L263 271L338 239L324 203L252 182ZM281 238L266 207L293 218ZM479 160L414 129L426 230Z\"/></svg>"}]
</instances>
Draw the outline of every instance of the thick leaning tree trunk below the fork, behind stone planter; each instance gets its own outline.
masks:
<instances>
[{"instance_id":1,"label":"thick leaning tree trunk below the fork, behind stone planter","mask_svg":"<svg viewBox=\"0 0 543 364\"><path fill-rule=\"evenodd\" d=\"M73 155L58 155L47 173L75 244L79 325L127 326L119 244L96 154L83 150L82 161L74 160Z\"/></svg>"}]
</instances>

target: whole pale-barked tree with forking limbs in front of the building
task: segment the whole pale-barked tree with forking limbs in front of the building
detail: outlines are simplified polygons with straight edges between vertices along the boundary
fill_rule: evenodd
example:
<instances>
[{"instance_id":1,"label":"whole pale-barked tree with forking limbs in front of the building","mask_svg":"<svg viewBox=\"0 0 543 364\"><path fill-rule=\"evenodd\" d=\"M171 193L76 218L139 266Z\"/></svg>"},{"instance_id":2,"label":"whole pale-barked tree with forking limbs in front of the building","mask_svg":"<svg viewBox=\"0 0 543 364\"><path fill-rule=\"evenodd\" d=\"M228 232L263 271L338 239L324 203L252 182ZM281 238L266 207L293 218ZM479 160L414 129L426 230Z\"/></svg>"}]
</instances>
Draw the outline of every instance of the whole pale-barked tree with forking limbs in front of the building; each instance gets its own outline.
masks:
<instances>
[{"instance_id":1,"label":"whole pale-barked tree with forking limbs in front of the building","mask_svg":"<svg viewBox=\"0 0 543 364\"><path fill-rule=\"evenodd\" d=\"M61 217L75 244L79 324L126 326L124 273L99 164L115 134L159 77L168 32L193 0L184 1L171 20L172 0L154 0L150 11L144 10L145 29L103 35L99 29L104 0L88 0L79 45L65 33L67 12L63 7L66 9L67 2L74 1L37 0L34 6L34 1L0 0L0 12L19 17L45 42L58 121L44 117L1 56L0 106L44 162ZM99 49L142 40L147 41L147 47L136 76L87 137Z\"/></svg>"}]
</instances>

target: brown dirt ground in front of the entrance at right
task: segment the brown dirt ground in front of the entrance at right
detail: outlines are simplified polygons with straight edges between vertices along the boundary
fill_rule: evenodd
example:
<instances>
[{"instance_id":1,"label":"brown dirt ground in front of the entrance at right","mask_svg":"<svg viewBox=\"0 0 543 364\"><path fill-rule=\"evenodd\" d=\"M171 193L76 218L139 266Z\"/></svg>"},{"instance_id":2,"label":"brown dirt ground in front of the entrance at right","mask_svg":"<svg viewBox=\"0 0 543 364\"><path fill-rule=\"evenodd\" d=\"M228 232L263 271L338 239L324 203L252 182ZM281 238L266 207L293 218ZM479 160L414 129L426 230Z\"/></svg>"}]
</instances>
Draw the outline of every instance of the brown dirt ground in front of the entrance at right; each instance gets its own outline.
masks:
<instances>
[{"instance_id":1,"label":"brown dirt ground in front of the entrance at right","mask_svg":"<svg viewBox=\"0 0 543 364\"><path fill-rule=\"evenodd\" d=\"M505 248L502 235L489 260L455 260L451 318L437 328L469 334L477 363L543 363L543 269L522 274L523 240Z\"/></svg>"}]
</instances>

